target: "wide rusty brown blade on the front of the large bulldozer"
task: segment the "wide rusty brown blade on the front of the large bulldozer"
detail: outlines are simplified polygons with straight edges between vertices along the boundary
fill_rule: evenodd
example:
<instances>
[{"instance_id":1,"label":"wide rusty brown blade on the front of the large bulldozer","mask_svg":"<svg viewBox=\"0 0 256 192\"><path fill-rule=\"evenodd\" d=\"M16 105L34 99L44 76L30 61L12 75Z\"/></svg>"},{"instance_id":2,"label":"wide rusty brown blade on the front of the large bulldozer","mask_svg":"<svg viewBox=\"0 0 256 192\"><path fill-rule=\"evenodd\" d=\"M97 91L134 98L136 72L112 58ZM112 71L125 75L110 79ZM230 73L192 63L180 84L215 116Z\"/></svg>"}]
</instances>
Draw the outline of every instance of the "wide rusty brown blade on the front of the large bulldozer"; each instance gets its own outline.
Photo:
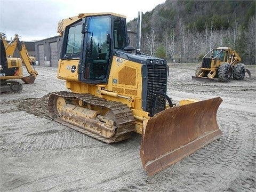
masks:
<instances>
[{"instance_id":1,"label":"wide rusty brown blade on the front of the large bulldozer","mask_svg":"<svg viewBox=\"0 0 256 192\"><path fill-rule=\"evenodd\" d=\"M165 109L143 125L140 158L148 175L218 139L220 97Z\"/></svg>"}]
</instances>

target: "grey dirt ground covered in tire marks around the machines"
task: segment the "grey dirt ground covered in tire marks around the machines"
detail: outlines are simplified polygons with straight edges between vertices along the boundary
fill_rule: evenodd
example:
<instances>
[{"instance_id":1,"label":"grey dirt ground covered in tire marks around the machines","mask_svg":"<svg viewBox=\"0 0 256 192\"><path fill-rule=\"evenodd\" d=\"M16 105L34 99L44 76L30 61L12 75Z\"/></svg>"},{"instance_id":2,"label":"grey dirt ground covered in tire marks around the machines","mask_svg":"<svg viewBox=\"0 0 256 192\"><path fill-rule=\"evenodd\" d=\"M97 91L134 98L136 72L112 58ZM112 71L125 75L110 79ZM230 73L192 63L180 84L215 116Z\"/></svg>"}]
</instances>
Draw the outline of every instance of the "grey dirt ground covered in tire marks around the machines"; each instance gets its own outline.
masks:
<instances>
[{"instance_id":1,"label":"grey dirt ground covered in tire marks around the machines","mask_svg":"<svg viewBox=\"0 0 256 192\"><path fill-rule=\"evenodd\" d=\"M65 91L57 68L35 66L34 84L0 97L0 191L256 191L256 70L229 83L192 81L195 66L170 65L168 95L220 96L220 139L148 177L140 135L108 145L51 120L47 94ZM20 81L21 82L21 81Z\"/></svg>"}]
</instances>

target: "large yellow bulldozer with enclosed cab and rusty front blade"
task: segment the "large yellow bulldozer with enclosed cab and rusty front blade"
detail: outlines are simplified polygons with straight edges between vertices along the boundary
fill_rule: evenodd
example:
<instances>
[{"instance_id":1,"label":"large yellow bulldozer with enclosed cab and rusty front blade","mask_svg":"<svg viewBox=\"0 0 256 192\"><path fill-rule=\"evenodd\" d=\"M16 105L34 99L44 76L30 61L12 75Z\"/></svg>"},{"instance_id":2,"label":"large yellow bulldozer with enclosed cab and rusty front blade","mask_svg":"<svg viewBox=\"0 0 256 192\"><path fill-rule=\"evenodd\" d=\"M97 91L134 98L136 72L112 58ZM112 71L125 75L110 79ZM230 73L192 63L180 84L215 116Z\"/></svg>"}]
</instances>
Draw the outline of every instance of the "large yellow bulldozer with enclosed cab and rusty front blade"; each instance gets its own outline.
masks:
<instances>
[{"instance_id":1,"label":"large yellow bulldozer with enclosed cab and rusty front blade","mask_svg":"<svg viewBox=\"0 0 256 192\"><path fill-rule=\"evenodd\" d=\"M105 143L141 134L140 158L154 175L221 137L220 97L174 103L166 94L166 60L129 46L126 17L81 13L59 21L63 36L57 78L70 91L49 96L55 121Z\"/></svg>"}]
</instances>

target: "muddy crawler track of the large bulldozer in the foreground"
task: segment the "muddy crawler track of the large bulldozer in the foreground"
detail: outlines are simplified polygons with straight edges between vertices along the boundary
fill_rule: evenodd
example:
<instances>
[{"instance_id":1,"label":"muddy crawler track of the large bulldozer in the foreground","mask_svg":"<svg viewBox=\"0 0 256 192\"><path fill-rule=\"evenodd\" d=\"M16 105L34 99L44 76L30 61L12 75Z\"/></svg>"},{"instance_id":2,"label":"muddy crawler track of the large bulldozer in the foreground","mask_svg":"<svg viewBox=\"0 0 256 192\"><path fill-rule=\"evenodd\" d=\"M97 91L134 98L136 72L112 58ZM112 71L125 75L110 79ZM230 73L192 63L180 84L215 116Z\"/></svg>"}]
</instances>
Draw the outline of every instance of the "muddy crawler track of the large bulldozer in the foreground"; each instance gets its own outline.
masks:
<instances>
[{"instance_id":1,"label":"muddy crawler track of the large bulldozer in the foreground","mask_svg":"<svg viewBox=\"0 0 256 192\"><path fill-rule=\"evenodd\" d=\"M89 93L54 92L48 106L54 121L102 142L128 139L135 129L135 119L127 105Z\"/></svg>"}]
</instances>

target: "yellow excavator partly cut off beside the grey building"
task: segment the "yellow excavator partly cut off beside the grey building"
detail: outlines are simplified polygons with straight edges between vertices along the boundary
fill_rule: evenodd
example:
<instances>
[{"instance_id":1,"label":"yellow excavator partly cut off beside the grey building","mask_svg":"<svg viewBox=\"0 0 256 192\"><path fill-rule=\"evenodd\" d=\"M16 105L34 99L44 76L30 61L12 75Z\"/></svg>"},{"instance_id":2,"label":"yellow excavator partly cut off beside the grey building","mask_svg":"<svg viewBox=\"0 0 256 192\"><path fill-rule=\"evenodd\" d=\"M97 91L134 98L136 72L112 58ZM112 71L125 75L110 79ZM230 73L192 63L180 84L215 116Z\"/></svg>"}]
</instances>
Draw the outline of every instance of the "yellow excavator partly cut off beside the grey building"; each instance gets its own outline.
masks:
<instances>
[{"instance_id":1,"label":"yellow excavator partly cut off beside the grey building","mask_svg":"<svg viewBox=\"0 0 256 192\"><path fill-rule=\"evenodd\" d=\"M19 37L15 37L10 43L7 43L6 36L0 33L1 40L1 92L20 92L22 85L18 81L10 81L10 79L21 79L26 84L35 82L37 71L33 67L33 61L29 58L26 47L20 42ZM13 58L12 55L16 49L19 50L20 58ZM30 76L23 76L22 63L25 65Z\"/></svg>"}]
</instances>

